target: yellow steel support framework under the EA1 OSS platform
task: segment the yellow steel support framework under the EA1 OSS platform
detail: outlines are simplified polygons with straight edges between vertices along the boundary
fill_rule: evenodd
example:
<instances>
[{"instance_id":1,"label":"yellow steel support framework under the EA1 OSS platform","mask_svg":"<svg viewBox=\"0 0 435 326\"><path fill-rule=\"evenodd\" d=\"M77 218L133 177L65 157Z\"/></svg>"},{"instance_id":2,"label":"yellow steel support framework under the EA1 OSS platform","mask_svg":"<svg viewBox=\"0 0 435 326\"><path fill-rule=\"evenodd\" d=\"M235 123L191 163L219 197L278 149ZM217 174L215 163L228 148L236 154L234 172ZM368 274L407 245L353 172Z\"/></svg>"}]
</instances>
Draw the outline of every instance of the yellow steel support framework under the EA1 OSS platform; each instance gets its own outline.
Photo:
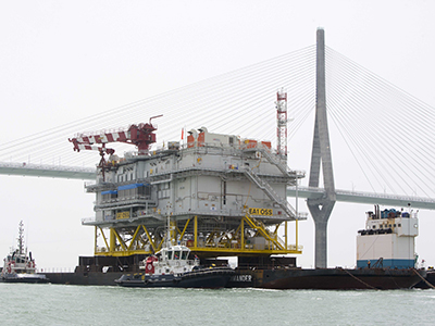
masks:
<instances>
[{"instance_id":1,"label":"yellow steel support framework under the EA1 OSS platform","mask_svg":"<svg viewBox=\"0 0 435 326\"><path fill-rule=\"evenodd\" d=\"M191 231L189 231L189 239L186 240L186 234L189 224L194 223ZM178 221L178 223L181 223ZM175 243L179 241L190 248L192 252L202 258L211 256L229 256L241 254L299 254L301 247L298 244L298 221L296 221L296 236L295 244L288 244L287 222L284 222L285 240L283 241L277 230L283 223L277 223L272 226L265 226L263 222L254 218L246 213L240 218L240 223L234 233L222 230L209 230L207 236L202 239L199 237L198 231L198 216L194 216L184 223L183 230L178 228L175 221L170 222L170 242ZM270 230L273 228L273 231ZM253 231L247 237L247 230ZM109 234L109 237L108 235ZM97 238L102 237L102 246L98 246ZM127 256L133 254L151 254L159 251L167 234L164 237L153 234L144 224L132 227L127 233L125 228L116 229L111 227L103 229L96 226L95 234L95 254L96 255L112 255L112 256ZM261 241L256 241L258 238ZM262 240L263 239L263 240ZM257 243L260 242L260 243Z\"/></svg>"}]
</instances>

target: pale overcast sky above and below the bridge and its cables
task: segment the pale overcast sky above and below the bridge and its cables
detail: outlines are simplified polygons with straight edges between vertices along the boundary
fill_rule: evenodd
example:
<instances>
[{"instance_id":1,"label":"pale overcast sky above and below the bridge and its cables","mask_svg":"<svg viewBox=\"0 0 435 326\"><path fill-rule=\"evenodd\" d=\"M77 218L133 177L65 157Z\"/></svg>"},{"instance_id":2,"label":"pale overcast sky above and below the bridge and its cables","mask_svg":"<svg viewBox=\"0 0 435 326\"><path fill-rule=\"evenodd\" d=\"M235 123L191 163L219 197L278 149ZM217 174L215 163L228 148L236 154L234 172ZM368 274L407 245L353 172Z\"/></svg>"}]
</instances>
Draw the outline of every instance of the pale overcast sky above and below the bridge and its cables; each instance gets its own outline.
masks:
<instances>
[{"instance_id":1,"label":"pale overcast sky above and below the bridge and its cables","mask_svg":"<svg viewBox=\"0 0 435 326\"><path fill-rule=\"evenodd\" d=\"M1 1L0 143L313 45L318 27L328 47L435 106L434 12L433 1L403 0ZM92 254L94 229L80 218L92 216L94 197L83 181L0 180L0 255L20 220L39 267L73 268ZM371 209L336 204L330 266L356 264ZM433 215L420 214L417 251L435 265ZM310 267L311 221L299 240L299 264Z\"/></svg>"}]
</instances>

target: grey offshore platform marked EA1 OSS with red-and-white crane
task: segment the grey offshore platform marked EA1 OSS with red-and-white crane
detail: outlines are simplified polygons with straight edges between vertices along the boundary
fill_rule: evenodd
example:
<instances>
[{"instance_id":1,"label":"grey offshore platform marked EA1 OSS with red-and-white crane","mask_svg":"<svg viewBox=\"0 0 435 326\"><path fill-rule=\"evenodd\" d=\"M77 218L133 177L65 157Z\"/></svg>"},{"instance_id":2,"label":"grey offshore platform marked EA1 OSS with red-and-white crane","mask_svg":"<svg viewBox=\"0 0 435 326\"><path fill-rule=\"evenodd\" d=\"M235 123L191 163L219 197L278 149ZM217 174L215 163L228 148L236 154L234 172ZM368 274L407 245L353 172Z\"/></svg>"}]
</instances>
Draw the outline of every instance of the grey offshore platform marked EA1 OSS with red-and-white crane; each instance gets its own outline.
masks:
<instances>
[{"instance_id":1,"label":"grey offshore platform marked EA1 OSS with red-and-white crane","mask_svg":"<svg viewBox=\"0 0 435 326\"><path fill-rule=\"evenodd\" d=\"M303 172L287 167L287 95L277 92L277 149L271 141L209 133L186 133L186 139L151 151L157 126L130 125L116 133L80 134L70 139L74 150L101 155L96 193L95 256L80 258L78 272L136 272L159 251L167 237L202 261L237 256L238 266L272 264L271 255L298 254L298 213L286 198ZM185 138L184 135L182 138ZM107 143L126 142L137 152L119 158ZM105 160L108 154L108 160ZM296 223L293 243L288 223ZM278 229L284 228L284 239ZM296 266L296 259L282 258ZM273 258L273 263L279 256ZM293 262L293 263L291 263Z\"/></svg>"}]
</instances>

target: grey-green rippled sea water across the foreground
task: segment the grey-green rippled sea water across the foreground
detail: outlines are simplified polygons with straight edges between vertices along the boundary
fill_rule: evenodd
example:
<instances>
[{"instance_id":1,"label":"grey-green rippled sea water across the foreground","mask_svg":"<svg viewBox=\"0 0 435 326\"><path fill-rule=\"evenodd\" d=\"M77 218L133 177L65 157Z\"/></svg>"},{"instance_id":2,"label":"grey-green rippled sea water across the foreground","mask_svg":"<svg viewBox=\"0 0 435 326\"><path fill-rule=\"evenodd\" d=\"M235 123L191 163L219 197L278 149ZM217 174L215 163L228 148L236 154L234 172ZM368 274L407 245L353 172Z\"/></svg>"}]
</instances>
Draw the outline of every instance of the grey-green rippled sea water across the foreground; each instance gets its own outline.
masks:
<instances>
[{"instance_id":1,"label":"grey-green rippled sea water across the foreground","mask_svg":"<svg viewBox=\"0 0 435 326\"><path fill-rule=\"evenodd\" d=\"M0 284L2 325L434 325L435 290Z\"/></svg>"}]
</instances>

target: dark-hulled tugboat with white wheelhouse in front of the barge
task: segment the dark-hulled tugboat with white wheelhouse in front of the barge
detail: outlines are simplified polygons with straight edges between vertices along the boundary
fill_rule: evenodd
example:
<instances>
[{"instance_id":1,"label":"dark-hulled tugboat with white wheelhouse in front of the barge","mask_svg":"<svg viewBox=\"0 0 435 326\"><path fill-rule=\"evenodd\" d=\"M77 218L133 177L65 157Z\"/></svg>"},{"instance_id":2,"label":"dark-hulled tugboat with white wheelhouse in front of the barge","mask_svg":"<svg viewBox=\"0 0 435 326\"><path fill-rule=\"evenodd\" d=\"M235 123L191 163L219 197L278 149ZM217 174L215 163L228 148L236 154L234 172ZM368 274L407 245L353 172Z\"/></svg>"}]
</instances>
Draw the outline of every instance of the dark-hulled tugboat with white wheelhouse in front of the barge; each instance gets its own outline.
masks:
<instances>
[{"instance_id":1,"label":"dark-hulled tugboat with white wheelhouse in front of the barge","mask_svg":"<svg viewBox=\"0 0 435 326\"><path fill-rule=\"evenodd\" d=\"M228 266L201 267L186 246L170 246L144 261L144 273L124 274L122 287L224 288L235 271Z\"/></svg>"}]
</instances>

